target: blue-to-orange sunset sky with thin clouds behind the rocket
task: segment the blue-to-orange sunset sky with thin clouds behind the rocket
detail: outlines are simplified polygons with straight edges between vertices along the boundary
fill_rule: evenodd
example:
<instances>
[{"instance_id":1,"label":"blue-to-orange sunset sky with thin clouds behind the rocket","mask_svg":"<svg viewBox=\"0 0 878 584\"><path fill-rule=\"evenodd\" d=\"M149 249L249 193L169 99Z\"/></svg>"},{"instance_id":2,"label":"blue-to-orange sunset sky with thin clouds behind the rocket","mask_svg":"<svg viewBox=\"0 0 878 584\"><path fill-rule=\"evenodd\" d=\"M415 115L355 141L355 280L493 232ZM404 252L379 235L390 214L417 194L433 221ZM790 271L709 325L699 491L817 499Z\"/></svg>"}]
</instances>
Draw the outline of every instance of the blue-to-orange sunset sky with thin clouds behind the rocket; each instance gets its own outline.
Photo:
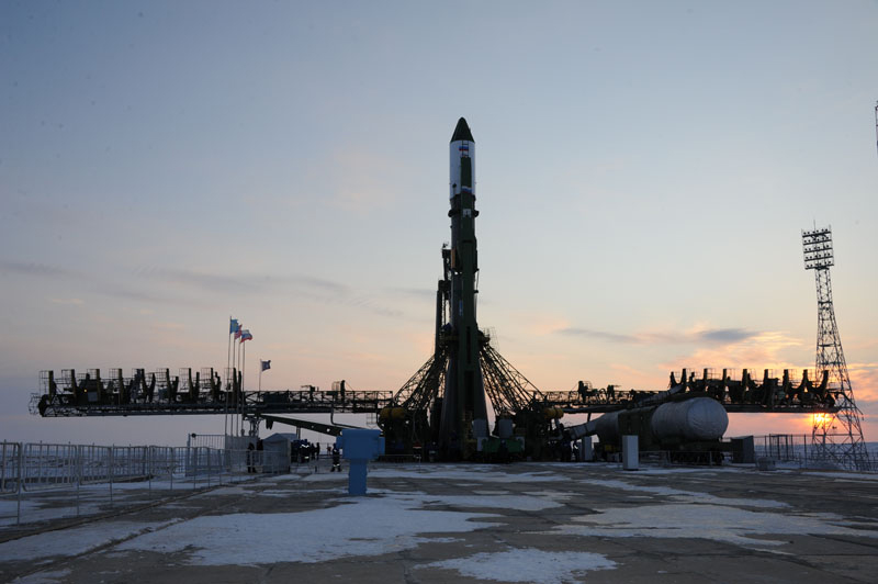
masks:
<instances>
[{"instance_id":1,"label":"blue-to-orange sunset sky with thin clouds behind the rocket","mask_svg":"<svg viewBox=\"0 0 878 584\"><path fill-rule=\"evenodd\" d=\"M395 391L427 360L448 141L477 148L479 322L543 391L813 368L801 229L878 439L878 2L0 2L0 439L41 370ZM732 415L729 435L810 434Z\"/></svg>"}]
</instances>

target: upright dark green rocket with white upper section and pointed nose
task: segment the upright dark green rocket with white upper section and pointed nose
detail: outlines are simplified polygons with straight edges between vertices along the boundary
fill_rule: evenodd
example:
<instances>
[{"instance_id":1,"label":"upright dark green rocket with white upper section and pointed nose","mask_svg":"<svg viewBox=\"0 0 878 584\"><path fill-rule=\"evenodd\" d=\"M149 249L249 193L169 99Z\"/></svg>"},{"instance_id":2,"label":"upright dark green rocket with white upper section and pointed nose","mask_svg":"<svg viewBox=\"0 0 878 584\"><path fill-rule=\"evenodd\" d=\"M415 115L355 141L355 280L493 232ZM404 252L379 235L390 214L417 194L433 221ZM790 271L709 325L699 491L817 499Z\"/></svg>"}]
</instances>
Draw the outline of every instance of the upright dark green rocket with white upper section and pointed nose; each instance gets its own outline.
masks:
<instances>
[{"instance_id":1,"label":"upright dark green rocket with white upper section and pointed nose","mask_svg":"<svg viewBox=\"0 0 878 584\"><path fill-rule=\"evenodd\" d=\"M451 290L448 370L442 398L441 447L451 458L466 457L472 440L487 436L487 408L475 317L475 141L461 117L450 143Z\"/></svg>"}]
</instances>

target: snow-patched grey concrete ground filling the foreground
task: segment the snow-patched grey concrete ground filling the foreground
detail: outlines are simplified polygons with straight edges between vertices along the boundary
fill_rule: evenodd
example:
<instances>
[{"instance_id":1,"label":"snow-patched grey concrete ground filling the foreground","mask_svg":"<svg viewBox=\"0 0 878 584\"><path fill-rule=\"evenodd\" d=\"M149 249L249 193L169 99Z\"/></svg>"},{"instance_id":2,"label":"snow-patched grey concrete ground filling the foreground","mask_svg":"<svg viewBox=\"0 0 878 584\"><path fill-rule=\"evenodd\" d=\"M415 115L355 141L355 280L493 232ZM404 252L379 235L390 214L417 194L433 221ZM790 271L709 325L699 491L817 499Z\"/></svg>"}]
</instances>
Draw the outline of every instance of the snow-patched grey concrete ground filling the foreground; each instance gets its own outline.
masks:
<instances>
[{"instance_id":1,"label":"snow-patched grey concrete ground filling the foreground","mask_svg":"<svg viewBox=\"0 0 878 584\"><path fill-rule=\"evenodd\" d=\"M873 582L878 476L372 464L0 527L0 581ZM126 496L136 499L137 490ZM40 507L63 505L57 492Z\"/></svg>"}]
</instances>

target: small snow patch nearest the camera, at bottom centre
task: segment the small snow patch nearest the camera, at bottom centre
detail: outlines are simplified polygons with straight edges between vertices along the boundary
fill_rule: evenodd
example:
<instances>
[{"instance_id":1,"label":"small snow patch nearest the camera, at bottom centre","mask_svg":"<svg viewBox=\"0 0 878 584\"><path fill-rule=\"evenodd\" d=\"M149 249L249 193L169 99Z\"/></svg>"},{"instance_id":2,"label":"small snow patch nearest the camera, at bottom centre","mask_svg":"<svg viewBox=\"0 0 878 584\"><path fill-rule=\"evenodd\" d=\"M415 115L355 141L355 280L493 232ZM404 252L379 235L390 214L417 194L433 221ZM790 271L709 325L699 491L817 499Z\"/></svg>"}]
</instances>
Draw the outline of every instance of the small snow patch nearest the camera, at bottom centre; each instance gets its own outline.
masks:
<instances>
[{"instance_id":1,"label":"small snow patch nearest the camera, at bottom centre","mask_svg":"<svg viewBox=\"0 0 878 584\"><path fill-rule=\"evenodd\" d=\"M614 569L616 562L598 553L525 548L496 553L476 553L468 558L454 558L418 568L457 570L461 575L476 580L562 584L577 582L579 579L575 574L589 570Z\"/></svg>"}]
</instances>

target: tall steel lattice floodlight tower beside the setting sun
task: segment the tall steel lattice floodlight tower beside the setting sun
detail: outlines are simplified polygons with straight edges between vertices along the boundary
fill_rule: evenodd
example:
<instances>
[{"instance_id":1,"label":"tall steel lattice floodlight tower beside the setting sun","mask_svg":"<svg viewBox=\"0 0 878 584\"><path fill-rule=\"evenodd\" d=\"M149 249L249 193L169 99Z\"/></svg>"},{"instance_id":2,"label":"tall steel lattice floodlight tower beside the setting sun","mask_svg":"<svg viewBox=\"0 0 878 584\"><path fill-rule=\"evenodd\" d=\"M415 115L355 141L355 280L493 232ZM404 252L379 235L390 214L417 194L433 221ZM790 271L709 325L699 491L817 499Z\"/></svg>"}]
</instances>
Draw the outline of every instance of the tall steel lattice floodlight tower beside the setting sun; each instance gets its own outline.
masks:
<instances>
[{"instance_id":1,"label":"tall steel lattice floodlight tower beside the setting sun","mask_svg":"<svg viewBox=\"0 0 878 584\"><path fill-rule=\"evenodd\" d=\"M814 270L817 282L817 359L814 373L829 371L829 390L838 412L814 416L811 430L812 458L848 469L869 470L869 458L859 424L862 413L854 402L842 339L832 306L832 227L802 231L804 269Z\"/></svg>"}]
</instances>

